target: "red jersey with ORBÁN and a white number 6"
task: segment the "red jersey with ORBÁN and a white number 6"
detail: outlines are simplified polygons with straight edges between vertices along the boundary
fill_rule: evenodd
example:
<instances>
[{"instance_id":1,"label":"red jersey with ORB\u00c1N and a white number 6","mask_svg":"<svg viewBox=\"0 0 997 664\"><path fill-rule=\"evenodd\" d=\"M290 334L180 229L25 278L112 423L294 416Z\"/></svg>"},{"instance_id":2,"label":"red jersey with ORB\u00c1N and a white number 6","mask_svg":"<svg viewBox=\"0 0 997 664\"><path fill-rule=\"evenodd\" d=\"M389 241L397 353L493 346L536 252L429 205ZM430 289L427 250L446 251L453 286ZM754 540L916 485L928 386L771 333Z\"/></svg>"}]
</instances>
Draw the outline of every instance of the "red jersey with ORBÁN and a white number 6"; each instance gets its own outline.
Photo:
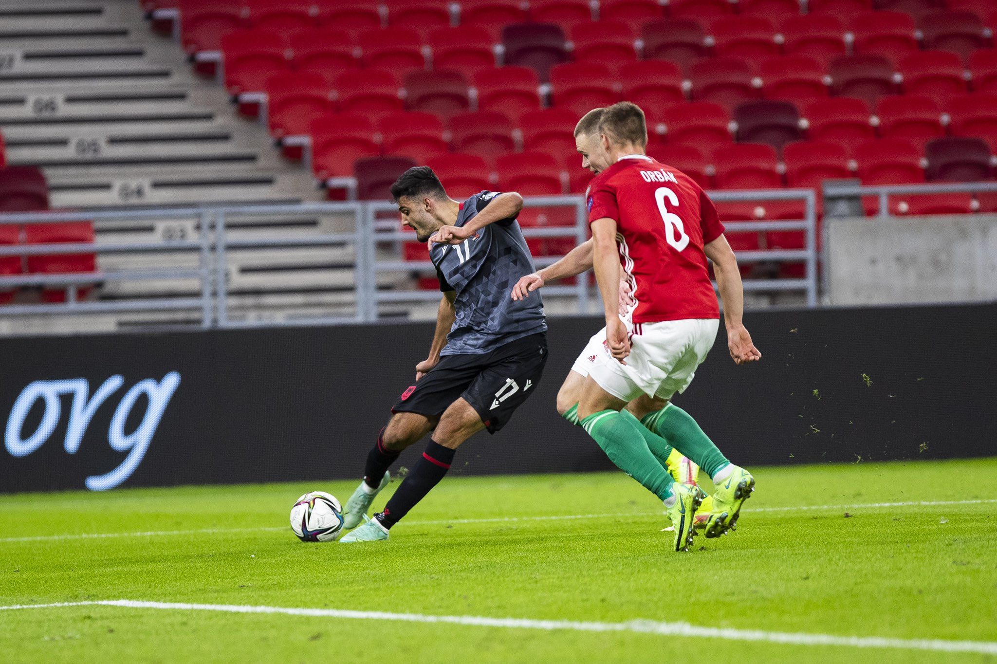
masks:
<instances>
[{"instance_id":1,"label":"red jersey with ORB\u00c1N and a white number 6","mask_svg":"<svg viewBox=\"0 0 997 664\"><path fill-rule=\"evenodd\" d=\"M720 318L703 247L724 225L691 177L649 157L623 157L589 188L589 222L604 217L616 221L620 263L637 301L634 323Z\"/></svg>"}]
</instances>

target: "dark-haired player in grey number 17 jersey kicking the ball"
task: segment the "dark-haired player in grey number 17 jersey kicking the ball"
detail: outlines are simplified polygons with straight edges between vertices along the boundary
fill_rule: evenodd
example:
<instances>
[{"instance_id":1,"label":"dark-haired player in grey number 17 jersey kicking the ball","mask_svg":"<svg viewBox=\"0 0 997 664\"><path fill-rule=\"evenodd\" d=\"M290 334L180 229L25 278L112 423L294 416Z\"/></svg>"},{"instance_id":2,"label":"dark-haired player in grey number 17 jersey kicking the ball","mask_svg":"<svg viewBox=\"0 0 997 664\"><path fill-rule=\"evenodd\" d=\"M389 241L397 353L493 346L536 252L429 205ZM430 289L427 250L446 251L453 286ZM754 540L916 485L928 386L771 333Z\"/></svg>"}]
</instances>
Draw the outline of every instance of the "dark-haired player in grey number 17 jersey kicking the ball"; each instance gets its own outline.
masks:
<instances>
[{"instance_id":1,"label":"dark-haired player in grey number 17 jersey kicking the ball","mask_svg":"<svg viewBox=\"0 0 997 664\"><path fill-rule=\"evenodd\" d=\"M391 193L405 224L420 241L432 241L443 297L429 357L416 365L416 384L392 409L367 457L364 481L346 502L345 527L365 522L343 542L387 539L391 526L447 474L462 443L508 422L535 391L547 361L542 302L508 297L534 269L515 220L522 197L482 191L459 202L428 166L405 171ZM389 467L431 431L422 459L384 510L367 518Z\"/></svg>"}]
</instances>

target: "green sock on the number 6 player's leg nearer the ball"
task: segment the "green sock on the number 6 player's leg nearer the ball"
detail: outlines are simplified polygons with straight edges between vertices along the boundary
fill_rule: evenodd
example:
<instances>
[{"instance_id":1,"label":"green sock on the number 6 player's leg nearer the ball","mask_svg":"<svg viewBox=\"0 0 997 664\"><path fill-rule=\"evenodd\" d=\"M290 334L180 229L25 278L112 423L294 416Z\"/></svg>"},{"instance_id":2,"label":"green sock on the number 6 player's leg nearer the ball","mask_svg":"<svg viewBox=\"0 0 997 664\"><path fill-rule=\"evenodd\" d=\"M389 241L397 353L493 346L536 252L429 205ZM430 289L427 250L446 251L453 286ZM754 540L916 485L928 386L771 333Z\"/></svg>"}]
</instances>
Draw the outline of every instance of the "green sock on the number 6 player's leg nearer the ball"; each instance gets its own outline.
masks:
<instances>
[{"instance_id":1,"label":"green sock on the number 6 player's leg nearer the ball","mask_svg":"<svg viewBox=\"0 0 997 664\"><path fill-rule=\"evenodd\" d=\"M616 411L600 411L582 420L581 426L616 468L662 500L672 495L672 476L651 454L633 420Z\"/></svg>"}]
</instances>

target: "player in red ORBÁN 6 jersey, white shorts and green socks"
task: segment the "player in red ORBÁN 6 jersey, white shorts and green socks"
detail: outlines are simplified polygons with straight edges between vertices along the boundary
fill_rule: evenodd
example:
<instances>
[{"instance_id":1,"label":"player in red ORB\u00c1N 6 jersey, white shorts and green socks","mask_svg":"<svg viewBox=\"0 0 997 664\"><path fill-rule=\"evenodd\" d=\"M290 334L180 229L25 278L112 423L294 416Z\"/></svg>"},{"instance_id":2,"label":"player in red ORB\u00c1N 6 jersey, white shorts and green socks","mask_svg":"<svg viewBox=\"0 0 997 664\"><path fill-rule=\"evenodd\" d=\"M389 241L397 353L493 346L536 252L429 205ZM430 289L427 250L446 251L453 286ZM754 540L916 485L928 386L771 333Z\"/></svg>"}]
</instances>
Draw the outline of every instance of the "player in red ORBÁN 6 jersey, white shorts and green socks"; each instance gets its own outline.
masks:
<instances>
[{"instance_id":1,"label":"player in red ORB\u00c1N 6 jersey, white shorts and green socks","mask_svg":"<svg viewBox=\"0 0 997 664\"><path fill-rule=\"evenodd\" d=\"M606 319L606 351L582 388L582 427L620 468L637 465L653 472L650 452L630 411L652 432L698 464L716 486L706 535L732 528L741 505L755 488L746 470L731 464L684 411L670 399L692 382L716 339L720 309L707 266L713 261L725 304L728 348L738 364L762 355L742 323L744 294L737 259L724 237L713 202L693 179L644 155L647 126L634 104L607 107L599 122L611 166L589 187L593 267ZM632 333L619 315L620 270L631 282L636 306ZM675 417L679 416L679 417ZM660 465L658 466L660 469ZM675 483L663 469L665 507L675 526L675 549L686 550L695 530L693 514L702 494ZM646 486L646 485L645 485Z\"/></svg>"}]
</instances>

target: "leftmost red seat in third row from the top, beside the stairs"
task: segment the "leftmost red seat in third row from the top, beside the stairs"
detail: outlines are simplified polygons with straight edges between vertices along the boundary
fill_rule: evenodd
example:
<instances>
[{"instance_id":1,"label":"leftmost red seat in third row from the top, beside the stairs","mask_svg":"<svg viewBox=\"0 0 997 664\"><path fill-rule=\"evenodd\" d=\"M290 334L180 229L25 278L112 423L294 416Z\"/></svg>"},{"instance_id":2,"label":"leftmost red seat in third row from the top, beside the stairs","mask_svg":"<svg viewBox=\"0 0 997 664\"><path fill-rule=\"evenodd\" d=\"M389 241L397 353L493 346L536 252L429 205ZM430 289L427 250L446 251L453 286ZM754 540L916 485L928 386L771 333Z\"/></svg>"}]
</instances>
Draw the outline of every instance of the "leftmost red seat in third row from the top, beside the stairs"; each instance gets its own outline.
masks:
<instances>
[{"instance_id":1,"label":"leftmost red seat in third row from the top, beside the stairs","mask_svg":"<svg viewBox=\"0 0 997 664\"><path fill-rule=\"evenodd\" d=\"M308 133L311 117L333 111L332 84L315 72L287 72L266 80L270 136Z\"/></svg>"}]
</instances>

